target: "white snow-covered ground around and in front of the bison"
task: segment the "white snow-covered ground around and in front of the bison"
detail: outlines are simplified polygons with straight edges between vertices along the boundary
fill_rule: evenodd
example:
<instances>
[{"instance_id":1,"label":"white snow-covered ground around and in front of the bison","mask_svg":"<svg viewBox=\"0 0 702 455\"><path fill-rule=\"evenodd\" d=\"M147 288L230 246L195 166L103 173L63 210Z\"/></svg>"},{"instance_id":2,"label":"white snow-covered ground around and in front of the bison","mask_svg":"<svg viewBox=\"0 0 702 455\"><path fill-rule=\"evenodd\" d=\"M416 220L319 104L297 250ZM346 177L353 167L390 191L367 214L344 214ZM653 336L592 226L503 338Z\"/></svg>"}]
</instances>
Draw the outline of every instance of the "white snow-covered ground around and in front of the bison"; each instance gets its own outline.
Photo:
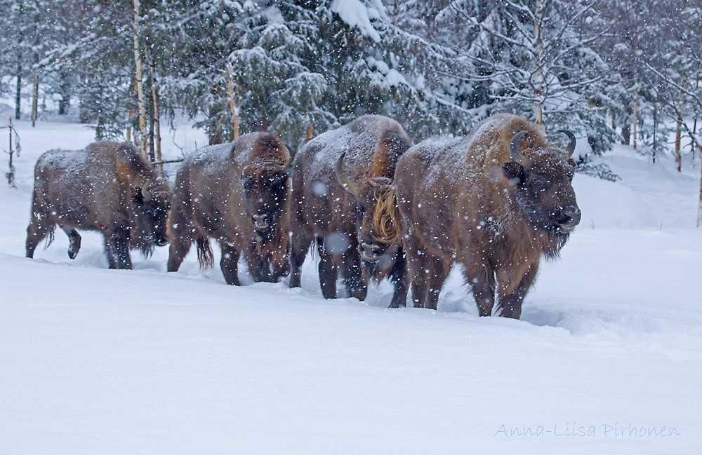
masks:
<instances>
[{"instance_id":1,"label":"white snow-covered ground around and in front of the bison","mask_svg":"<svg viewBox=\"0 0 702 455\"><path fill-rule=\"evenodd\" d=\"M20 133L18 189L0 187L0 454L701 453L698 170L620 147L622 182L578 175L583 223L515 321L477 318L456 273L434 313L385 309L387 284L324 301L311 259L292 291L229 287L192 256L166 274L165 248L108 271L91 233L74 261L60 231L25 259L34 160L92 132Z\"/></svg>"}]
</instances>

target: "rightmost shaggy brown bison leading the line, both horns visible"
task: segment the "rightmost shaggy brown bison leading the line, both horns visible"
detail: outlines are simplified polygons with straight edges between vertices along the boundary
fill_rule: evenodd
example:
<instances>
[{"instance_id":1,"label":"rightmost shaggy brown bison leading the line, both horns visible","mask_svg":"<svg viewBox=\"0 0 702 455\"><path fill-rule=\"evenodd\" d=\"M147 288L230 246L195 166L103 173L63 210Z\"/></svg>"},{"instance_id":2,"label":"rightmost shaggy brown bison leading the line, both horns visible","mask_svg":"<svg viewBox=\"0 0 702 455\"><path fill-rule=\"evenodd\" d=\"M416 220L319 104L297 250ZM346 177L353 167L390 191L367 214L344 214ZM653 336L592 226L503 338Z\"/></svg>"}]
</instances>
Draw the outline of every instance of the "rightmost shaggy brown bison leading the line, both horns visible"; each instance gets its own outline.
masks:
<instances>
[{"instance_id":1,"label":"rightmost shaggy brown bison leading the line, both horns visible","mask_svg":"<svg viewBox=\"0 0 702 455\"><path fill-rule=\"evenodd\" d=\"M480 315L519 318L541 257L580 222L573 133L552 147L526 119L497 114L467 137L427 140L395 172L415 306L436 309L451 264L463 264Z\"/></svg>"}]
</instances>

